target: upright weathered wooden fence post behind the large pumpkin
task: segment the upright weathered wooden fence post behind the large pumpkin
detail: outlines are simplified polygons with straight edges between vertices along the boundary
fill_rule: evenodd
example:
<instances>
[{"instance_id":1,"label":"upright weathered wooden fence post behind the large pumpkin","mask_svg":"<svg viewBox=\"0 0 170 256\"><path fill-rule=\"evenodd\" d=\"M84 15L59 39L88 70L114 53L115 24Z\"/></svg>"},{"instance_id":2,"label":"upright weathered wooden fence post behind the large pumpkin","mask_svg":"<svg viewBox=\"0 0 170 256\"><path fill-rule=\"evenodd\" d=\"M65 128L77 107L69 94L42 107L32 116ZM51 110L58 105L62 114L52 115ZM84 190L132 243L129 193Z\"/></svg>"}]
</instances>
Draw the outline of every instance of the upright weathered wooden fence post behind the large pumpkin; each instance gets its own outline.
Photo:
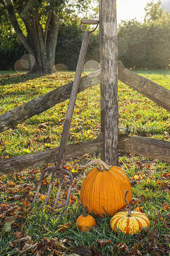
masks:
<instances>
[{"instance_id":1,"label":"upright weathered wooden fence post behind the large pumpkin","mask_svg":"<svg viewBox=\"0 0 170 256\"><path fill-rule=\"evenodd\" d=\"M100 63L103 67L100 74L100 95L105 103L104 108L101 106L101 131L104 135L101 159L107 164L118 166L118 50L115 0L99 0L99 22Z\"/></svg>"}]
</instances>

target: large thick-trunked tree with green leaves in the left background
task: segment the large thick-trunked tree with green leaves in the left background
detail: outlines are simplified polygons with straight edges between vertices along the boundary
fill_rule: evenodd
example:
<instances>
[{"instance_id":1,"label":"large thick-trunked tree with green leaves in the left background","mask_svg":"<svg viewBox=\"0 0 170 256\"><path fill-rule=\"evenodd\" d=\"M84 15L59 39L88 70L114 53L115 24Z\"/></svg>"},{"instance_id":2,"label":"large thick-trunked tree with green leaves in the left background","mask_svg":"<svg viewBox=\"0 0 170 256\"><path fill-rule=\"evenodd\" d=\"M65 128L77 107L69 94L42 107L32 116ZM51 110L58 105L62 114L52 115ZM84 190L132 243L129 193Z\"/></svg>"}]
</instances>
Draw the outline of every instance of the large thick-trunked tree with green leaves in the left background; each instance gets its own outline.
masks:
<instances>
[{"instance_id":1,"label":"large thick-trunked tree with green leaves in the left background","mask_svg":"<svg viewBox=\"0 0 170 256\"><path fill-rule=\"evenodd\" d=\"M70 3L72 1L72 4ZM93 0L95 1L95 0ZM0 20L9 19L20 43L35 58L32 72L49 73L54 66L58 28L85 12L91 0L0 0Z\"/></svg>"}]
</instances>

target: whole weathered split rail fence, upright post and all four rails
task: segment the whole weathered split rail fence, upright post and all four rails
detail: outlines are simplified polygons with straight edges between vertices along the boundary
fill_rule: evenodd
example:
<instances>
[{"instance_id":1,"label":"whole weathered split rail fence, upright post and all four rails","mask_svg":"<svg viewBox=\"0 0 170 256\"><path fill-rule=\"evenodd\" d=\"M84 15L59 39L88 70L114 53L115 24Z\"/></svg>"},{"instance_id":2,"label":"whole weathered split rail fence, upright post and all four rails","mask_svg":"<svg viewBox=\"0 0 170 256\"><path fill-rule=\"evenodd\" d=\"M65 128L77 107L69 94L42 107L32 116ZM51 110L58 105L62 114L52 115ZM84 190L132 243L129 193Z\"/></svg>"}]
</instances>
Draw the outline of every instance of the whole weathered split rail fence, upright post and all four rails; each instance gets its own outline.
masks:
<instances>
[{"instance_id":1,"label":"whole weathered split rail fence, upright post and all four rails","mask_svg":"<svg viewBox=\"0 0 170 256\"><path fill-rule=\"evenodd\" d=\"M107 73L110 79L108 84L100 83L100 94L105 101L105 108L100 112L101 133L94 140L67 145L65 159L101 150L103 161L110 165L118 165L118 150L122 150L169 162L169 141L118 134L118 79L169 112L170 91L124 68L121 61L117 60L116 0L99 0L99 24L101 74L103 77ZM111 24L115 33L114 36L108 36L105 33L106 24ZM103 48L106 45L111 45L110 59L105 58L103 54ZM98 72L96 73L98 74ZM113 79L111 79L112 77ZM97 84L99 84L97 76L84 76L81 78L78 93L80 87L81 91L84 91ZM39 115L56 104L69 99L72 85L73 82L65 84L0 115L0 132L21 124L30 117ZM55 163L58 149L58 147L51 148L24 156L0 159L0 175Z\"/></svg>"}]
</instances>

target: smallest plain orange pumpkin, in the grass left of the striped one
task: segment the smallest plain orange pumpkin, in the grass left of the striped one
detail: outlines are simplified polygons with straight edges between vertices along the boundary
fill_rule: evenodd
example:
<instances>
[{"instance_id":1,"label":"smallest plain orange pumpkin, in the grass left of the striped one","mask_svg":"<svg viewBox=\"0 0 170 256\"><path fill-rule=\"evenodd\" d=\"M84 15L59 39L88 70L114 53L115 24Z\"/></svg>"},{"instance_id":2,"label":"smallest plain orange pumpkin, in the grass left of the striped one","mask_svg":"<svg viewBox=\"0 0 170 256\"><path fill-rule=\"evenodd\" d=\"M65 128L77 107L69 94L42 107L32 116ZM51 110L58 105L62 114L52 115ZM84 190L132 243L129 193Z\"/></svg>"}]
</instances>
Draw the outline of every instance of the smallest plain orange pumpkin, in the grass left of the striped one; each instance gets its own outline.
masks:
<instances>
[{"instance_id":1,"label":"smallest plain orange pumpkin, in the grass left of the striped one","mask_svg":"<svg viewBox=\"0 0 170 256\"><path fill-rule=\"evenodd\" d=\"M83 207L81 207L81 208L83 209L83 214L77 218L76 224L77 224L79 230L86 232L87 230L92 229L90 227L93 227L96 225L96 221L94 220L94 218L91 215L89 215L85 212Z\"/></svg>"}]
</instances>

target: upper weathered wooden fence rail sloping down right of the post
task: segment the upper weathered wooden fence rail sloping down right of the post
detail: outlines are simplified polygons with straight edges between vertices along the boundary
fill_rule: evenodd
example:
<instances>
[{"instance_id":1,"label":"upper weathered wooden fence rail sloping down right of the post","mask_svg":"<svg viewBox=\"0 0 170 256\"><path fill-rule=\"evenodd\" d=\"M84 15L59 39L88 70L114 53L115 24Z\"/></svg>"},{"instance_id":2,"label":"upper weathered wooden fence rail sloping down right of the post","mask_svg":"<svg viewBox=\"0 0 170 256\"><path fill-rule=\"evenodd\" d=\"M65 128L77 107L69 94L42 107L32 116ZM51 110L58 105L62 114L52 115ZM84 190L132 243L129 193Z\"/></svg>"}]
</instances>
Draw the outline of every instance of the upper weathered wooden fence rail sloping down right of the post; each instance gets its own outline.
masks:
<instances>
[{"instance_id":1,"label":"upper weathered wooden fence rail sloping down right of the post","mask_svg":"<svg viewBox=\"0 0 170 256\"><path fill-rule=\"evenodd\" d=\"M168 89L124 68L121 61L118 62L118 69L120 81L170 111L170 91Z\"/></svg>"}]
</instances>

